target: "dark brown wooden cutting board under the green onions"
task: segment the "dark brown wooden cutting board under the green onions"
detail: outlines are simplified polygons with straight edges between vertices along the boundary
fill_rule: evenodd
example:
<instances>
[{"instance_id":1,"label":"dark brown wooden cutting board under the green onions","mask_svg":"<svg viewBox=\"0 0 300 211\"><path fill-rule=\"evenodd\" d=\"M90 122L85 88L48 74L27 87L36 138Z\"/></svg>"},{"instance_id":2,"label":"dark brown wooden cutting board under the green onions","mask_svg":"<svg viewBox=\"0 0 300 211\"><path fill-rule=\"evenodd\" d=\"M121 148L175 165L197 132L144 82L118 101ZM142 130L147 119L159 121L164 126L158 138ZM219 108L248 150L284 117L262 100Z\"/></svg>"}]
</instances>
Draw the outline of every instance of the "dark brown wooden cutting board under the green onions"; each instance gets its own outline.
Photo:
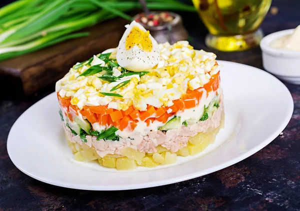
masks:
<instances>
[{"instance_id":1,"label":"dark brown wooden cutting board under the green onions","mask_svg":"<svg viewBox=\"0 0 300 211\"><path fill-rule=\"evenodd\" d=\"M28 95L53 84L76 62L87 60L107 48L116 47L125 24L126 20L116 18L83 29L82 31L90 32L87 37L67 40L1 61L0 90Z\"/></svg>"}]
</instances>

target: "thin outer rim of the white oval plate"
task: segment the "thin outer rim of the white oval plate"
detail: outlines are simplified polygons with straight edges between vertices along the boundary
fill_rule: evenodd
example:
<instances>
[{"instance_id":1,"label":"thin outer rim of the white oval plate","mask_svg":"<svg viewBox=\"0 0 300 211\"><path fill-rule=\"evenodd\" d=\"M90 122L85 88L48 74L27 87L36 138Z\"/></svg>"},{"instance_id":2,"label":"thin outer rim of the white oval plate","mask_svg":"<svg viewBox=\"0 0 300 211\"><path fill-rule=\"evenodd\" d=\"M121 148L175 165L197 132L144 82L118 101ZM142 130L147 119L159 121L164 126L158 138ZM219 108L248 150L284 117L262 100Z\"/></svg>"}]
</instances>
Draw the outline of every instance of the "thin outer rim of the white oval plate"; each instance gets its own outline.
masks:
<instances>
[{"instance_id":1,"label":"thin outer rim of the white oval plate","mask_svg":"<svg viewBox=\"0 0 300 211\"><path fill-rule=\"evenodd\" d=\"M71 189L80 189L80 190L129 190L129 189L141 189L141 188L147 188L147 187L156 187L156 186L161 186L161 185L167 185L167 184L172 184L172 183L176 183L176 182L180 182L180 181L185 181L185 180L189 180L192 178L196 178L199 176L203 176L218 170L221 170L223 168L229 167L249 156L251 156L252 154L256 153L257 151L261 150L263 147L265 147L267 144L269 144L271 141L273 141L280 132L282 132L284 130L284 128L287 126L288 122L290 121L291 117L292 117L292 113L293 113L293 109L294 109L294 103L293 103L293 99L292 99L292 95L290 93L290 91L288 90L288 88L285 86L285 84L280 81L278 78L276 78L274 75L266 72L265 70L259 69L257 67L254 66L250 66L247 64L242 64L242 63L236 63L236 62L232 62L232 61L224 61L224 60L217 60L217 62L222 63L229 63L229 64L233 64L233 65L238 65L238 66L248 66L250 68L254 68L256 70L259 70L261 72L264 72L264 74L268 75L269 77L273 77L275 80L277 80L279 83L281 83L283 85L282 88L285 89L285 91L287 91L288 94L288 98L289 98L289 103L291 106L289 106L289 109L287 110L288 115L285 116L284 120L282 120L282 123L278 126L278 128L273 131L268 138L266 138L264 141L262 141L261 143L255 145L255 147L247 150L245 153L242 153L224 163L218 164L218 165L214 165L211 166L209 168L206 169L205 172L199 173L199 172L192 172L189 174L184 174L182 176L177 176L177 177L172 177L170 178L164 178L158 181L148 181L148 182L143 182L143 183L136 183L136 184L123 184L123 185L107 185L107 186L102 186L102 185L94 185L94 186L90 186L90 185L86 185L86 184L73 184L73 183L67 183L67 182L57 182L55 180L50 180L50 179L44 179L44 178L40 178L38 176L35 176L34 174L31 174L30 172L27 172L26 170L24 170L22 167L20 167L17 163L15 163L15 161L13 160L13 158L11 157L10 153L9 153L9 140L11 138L9 138L11 136L11 131L12 128L15 126L16 122L18 121L19 118L21 118L21 116L30 108L32 108L37 102L39 102L40 100L50 97L52 94L55 93L49 93L48 95L44 96L43 98L39 99L38 101L36 101L34 104L32 104L30 107L28 107L13 123L13 125L11 126L8 136L7 136L7 142L6 142L6 150L8 153L8 156L10 158L10 160L12 161L12 163L24 174L37 179L39 181L48 183L48 184L52 184L55 186L60 186L60 187L66 187L66 188L71 188ZM190 160L191 161L191 160ZM181 163L182 164L182 163ZM180 166L180 164L178 165L174 165L174 166ZM172 167L174 167L172 166Z\"/></svg>"}]
</instances>

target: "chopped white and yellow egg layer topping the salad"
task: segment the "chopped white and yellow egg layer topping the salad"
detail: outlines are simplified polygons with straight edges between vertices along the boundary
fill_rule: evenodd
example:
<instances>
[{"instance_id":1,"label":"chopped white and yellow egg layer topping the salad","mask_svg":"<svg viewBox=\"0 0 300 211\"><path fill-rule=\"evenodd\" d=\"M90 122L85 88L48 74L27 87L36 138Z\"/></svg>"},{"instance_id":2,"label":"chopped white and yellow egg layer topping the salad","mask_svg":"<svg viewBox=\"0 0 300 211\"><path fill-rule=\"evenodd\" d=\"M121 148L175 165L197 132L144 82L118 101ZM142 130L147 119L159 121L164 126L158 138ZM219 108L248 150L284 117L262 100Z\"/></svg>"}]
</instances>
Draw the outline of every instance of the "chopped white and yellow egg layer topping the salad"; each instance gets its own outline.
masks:
<instances>
[{"instance_id":1,"label":"chopped white and yellow egg layer topping the salad","mask_svg":"<svg viewBox=\"0 0 300 211\"><path fill-rule=\"evenodd\" d=\"M146 110L147 104L154 107L171 106L172 100L180 98L187 90L203 86L220 68L216 64L214 53L195 50L188 41L178 41L173 45L168 42L159 44L159 50L158 64L148 69L149 73L141 77L133 74L121 77L116 82L108 82L97 77L105 74L105 71L79 76L91 65L107 65L94 56L90 65L71 68L56 82L55 90L61 97L71 97L71 104L77 105L79 109L84 105L108 105L108 108L126 110L133 105L135 109ZM107 52L111 52L109 58L115 58L116 48L107 49L102 53ZM113 67L114 76L121 74L120 68ZM125 80L130 81L110 91L112 87ZM107 96L100 92L118 93L122 97Z\"/></svg>"}]
</instances>

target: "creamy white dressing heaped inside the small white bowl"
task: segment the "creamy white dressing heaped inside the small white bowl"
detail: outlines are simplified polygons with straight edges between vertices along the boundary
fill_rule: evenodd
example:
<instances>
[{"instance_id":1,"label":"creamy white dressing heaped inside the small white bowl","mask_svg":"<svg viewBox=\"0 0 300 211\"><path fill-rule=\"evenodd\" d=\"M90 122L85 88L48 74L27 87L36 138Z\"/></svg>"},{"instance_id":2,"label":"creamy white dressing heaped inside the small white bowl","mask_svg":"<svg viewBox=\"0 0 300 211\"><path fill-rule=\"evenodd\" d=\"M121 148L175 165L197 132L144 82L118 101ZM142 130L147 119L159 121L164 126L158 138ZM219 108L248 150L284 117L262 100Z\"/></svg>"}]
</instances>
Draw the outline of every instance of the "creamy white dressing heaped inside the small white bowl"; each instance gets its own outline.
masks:
<instances>
[{"instance_id":1,"label":"creamy white dressing heaped inside the small white bowl","mask_svg":"<svg viewBox=\"0 0 300 211\"><path fill-rule=\"evenodd\" d=\"M300 50L300 25L298 25L292 34L282 36L270 44L273 48Z\"/></svg>"}]
</instances>

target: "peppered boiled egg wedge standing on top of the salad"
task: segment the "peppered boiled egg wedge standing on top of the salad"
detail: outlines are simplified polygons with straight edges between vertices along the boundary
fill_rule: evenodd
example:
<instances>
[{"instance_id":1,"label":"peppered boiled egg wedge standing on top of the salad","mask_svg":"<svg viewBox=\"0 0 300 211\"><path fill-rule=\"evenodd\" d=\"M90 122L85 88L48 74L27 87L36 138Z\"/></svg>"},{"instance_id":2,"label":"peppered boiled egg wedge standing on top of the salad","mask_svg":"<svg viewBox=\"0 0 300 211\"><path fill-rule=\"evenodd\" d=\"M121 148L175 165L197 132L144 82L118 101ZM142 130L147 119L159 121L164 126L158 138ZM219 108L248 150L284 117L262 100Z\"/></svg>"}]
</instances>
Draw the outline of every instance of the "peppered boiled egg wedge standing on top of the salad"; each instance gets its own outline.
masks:
<instances>
[{"instance_id":1,"label":"peppered boiled egg wedge standing on top of the salad","mask_svg":"<svg viewBox=\"0 0 300 211\"><path fill-rule=\"evenodd\" d=\"M119 41L116 61L130 71L144 71L159 61L159 47L156 40L139 23L132 21Z\"/></svg>"}]
</instances>

